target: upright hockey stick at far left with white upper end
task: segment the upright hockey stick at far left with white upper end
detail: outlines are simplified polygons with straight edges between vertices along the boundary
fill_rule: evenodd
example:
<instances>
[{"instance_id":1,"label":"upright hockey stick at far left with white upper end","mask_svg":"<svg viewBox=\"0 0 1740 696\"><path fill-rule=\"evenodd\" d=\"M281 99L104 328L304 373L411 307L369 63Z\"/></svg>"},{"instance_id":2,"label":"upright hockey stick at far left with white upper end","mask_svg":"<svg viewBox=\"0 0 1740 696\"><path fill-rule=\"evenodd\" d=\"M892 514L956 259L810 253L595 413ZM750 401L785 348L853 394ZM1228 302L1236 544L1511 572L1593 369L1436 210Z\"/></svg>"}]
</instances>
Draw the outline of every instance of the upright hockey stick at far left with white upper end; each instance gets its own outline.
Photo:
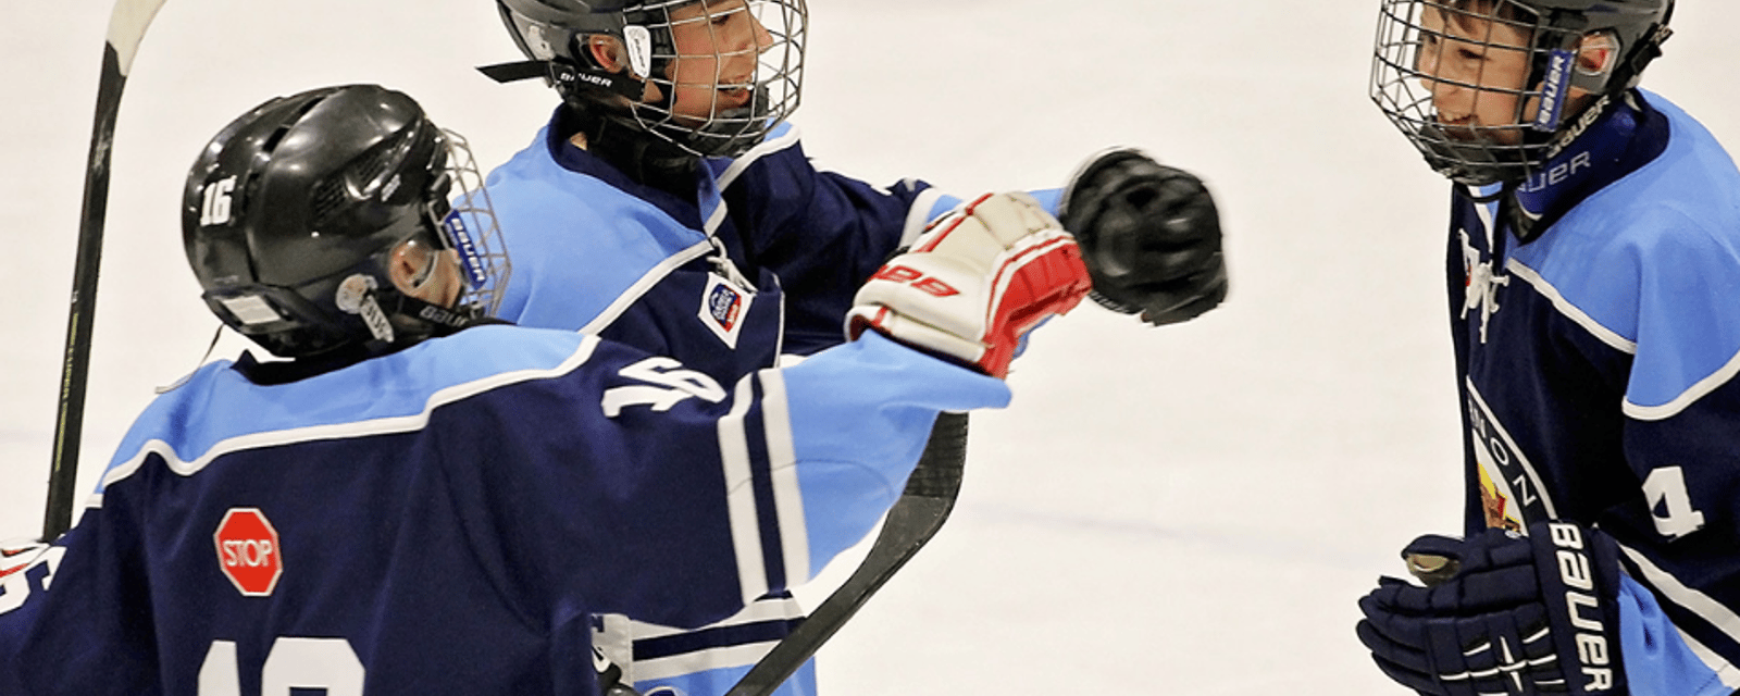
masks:
<instances>
[{"instance_id":1,"label":"upright hockey stick at far left with white upper end","mask_svg":"<svg viewBox=\"0 0 1740 696\"><path fill-rule=\"evenodd\" d=\"M90 125L90 157L85 160L85 200L78 219L73 298L66 315L66 362L61 365L61 405L54 423L54 465L49 470L42 541L54 541L73 524L73 485L78 478L78 437L85 418L85 372L90 367L90 327L97 308L115 115L120 111L120 92L127 85L132 57L162 7L164 0L115 0L110 14L103 77L97 80L97 113Z\"/></svg>"}]
</instances>

